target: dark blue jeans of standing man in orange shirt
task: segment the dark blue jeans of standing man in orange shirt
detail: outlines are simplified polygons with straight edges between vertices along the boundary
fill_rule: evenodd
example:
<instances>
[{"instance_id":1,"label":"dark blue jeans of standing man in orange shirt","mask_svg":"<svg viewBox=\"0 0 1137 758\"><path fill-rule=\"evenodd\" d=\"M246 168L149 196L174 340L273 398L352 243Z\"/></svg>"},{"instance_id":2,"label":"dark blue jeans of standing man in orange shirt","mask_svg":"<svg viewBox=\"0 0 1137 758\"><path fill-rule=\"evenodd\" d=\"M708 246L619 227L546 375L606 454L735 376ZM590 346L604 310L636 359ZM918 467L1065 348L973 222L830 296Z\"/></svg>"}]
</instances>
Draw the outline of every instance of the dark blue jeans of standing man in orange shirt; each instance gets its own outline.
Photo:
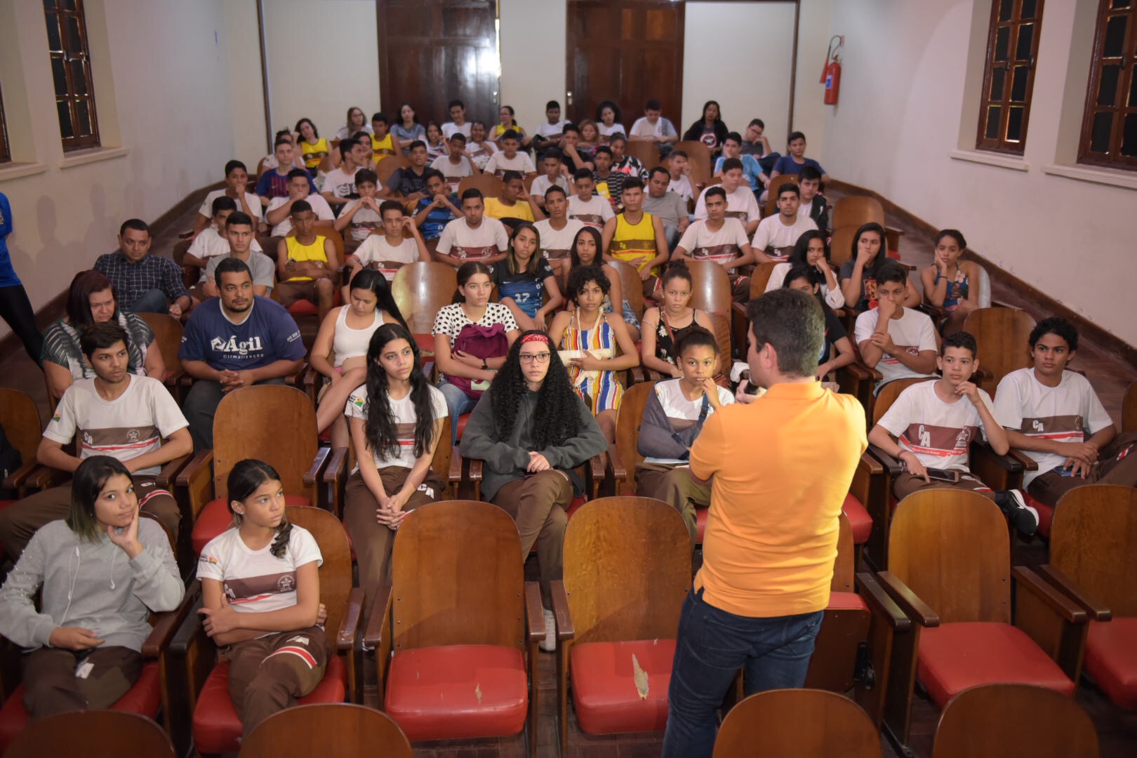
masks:
<instances>
[{"instance_id":1,"label":"dark blue jeans of standing man in orange shirt","mask_svg":"<svg viewBox=\"0 0 1137 758\"><path fill-rule=\"evenodd\" d=\"M667 689L664 758L711 758L715 710L738 669L746 694L799 688L813 656L824 611L749 618L720 610L694 588L683 600Z\"/></svg>"}]
</instances>

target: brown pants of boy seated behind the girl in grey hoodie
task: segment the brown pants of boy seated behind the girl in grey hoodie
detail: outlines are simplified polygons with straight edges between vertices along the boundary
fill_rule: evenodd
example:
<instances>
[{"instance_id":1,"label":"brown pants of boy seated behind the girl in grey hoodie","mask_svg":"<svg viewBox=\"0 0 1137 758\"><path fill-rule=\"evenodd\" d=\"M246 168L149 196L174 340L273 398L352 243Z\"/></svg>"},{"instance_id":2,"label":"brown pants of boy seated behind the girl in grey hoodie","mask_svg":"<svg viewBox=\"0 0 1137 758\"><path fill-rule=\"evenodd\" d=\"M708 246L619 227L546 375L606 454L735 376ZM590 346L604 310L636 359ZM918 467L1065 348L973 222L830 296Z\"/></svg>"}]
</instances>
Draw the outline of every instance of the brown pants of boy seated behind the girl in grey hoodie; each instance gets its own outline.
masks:
<instances>
[{"instance_id":1,"label":"brown pants of boy seated behind the girl in grey hoodie","mask_svg":"<svg viewBox=\"0 0 1137 758\"><path fill-rule=\"evenodd\" d=\"M174 495L160 489L152 476L135 474L134 492L144 513L157 518L177 544L177 528L182 511ZM47 524L66 518L70 513L70 482L42 490L18 500L0 511L0 542L13 560L18 560L24 548L32 541L35 532Z\"/></svg>"}]
</instances>

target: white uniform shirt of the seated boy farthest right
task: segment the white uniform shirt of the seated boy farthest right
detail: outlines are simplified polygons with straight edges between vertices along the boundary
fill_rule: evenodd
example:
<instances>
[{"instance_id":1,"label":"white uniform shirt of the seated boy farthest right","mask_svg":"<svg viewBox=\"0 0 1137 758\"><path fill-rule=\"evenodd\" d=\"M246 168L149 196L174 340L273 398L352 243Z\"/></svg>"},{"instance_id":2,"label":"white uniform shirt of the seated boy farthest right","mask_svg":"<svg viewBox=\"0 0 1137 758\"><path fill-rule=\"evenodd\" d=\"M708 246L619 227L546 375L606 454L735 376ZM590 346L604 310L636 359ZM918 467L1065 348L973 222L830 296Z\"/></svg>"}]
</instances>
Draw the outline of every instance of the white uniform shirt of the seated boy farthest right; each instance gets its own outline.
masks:
<instances>
[{"instance_id":1,"label":"white uniform shirt of the seated boy farthest right","mask_svg":"<svg viewBox=\"0 0 1137 758\"><path fill-rule=\"evenodd\" d=\"M1034 368L1011 372L998 383L995 420L1004 428L1055 442L1085 442L1113 425L1113 418L1105 413L1085 376L1063 372L1057 386L1046 386L1035 377ZM1023 486L1030 486L1039 474L1065 464L1065 457L1057 453L1022 452L1038 461L1038 470L1023 473Z\"/></svg>"}]
</instances>

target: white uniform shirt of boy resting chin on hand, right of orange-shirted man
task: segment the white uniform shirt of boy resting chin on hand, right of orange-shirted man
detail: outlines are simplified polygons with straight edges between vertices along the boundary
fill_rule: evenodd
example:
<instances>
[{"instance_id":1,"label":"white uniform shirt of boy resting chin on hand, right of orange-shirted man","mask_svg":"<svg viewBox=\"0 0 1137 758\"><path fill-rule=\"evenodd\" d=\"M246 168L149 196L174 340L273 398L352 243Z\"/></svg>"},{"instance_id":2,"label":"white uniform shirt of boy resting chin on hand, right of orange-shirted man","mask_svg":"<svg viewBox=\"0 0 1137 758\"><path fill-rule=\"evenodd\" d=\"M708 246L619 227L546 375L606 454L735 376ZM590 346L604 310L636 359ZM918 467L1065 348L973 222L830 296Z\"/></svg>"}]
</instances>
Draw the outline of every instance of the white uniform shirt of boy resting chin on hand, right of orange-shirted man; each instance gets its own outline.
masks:
<instances>
[{"instance_id":1,"label":"white uniform shirt of boy resting chin on hand, right of orange-shirted man","mask_svg":"<svg viewBox=\"0 0 1137 758\"><path fill-rule=\"evenodd\" d=\"M936 394L936 380L928 380L907 388L877 423L926 468L969 472L968 450L972 440L987 436L982 417L968 398L956 398L955 402L941 400ZM979 390L979 399L994 416L990 395Z\"/></svg>"}]
</instances>

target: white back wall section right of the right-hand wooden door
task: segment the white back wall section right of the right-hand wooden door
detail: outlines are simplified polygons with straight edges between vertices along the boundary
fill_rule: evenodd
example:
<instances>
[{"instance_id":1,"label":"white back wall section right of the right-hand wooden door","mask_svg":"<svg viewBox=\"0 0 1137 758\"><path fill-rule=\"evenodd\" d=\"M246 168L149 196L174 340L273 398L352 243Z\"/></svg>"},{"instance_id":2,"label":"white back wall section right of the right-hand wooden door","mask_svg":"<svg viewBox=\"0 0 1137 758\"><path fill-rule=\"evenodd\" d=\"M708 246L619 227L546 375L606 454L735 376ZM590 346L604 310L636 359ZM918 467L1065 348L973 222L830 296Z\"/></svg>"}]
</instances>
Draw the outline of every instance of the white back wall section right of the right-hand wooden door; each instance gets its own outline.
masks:
<instances>
[{"instance_id":1,"label":"white back wall section right of the right-hand wooden door","mask_svg":"<svg viewBox=\"0 0 1137 758\"><path fill-rule=\"evenodd\" d=\"M717 100L723 120L745 133L761 118L779 152L789 133L794 67L792 2L689 2L683 28L682 132ZM719 51L721 55L708 55Z\"/></svg>"}]
</instances>

